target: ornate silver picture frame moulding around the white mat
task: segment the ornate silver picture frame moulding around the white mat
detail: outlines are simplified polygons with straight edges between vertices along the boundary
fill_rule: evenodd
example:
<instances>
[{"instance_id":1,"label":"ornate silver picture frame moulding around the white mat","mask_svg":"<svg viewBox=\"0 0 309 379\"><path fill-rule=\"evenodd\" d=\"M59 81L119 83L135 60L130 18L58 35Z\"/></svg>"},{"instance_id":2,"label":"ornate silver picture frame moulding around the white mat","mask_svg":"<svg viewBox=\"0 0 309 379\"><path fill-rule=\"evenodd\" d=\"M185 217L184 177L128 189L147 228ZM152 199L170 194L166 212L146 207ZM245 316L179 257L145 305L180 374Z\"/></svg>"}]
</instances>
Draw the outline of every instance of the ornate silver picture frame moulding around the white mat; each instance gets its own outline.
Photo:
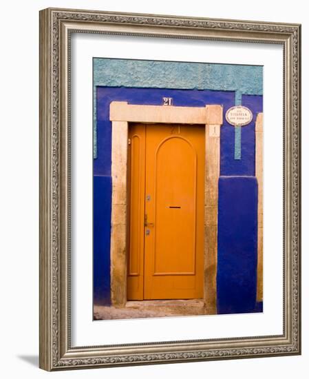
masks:
<instances>
[{"instance_id":1,"label":"ornate silver picture frame moulding around the white mat","mask_svg":"<svg viewBox=\"0 0 309 379\"><path fill-rule=\"evenodd\" d=\"M277 43L284 47L284 333L72 347L70 33ZM40 12L40 367L48 371L301 354L301 25L48 8ZM103 342L104 343L104 342Z\"/></svg>"}]
</instances>

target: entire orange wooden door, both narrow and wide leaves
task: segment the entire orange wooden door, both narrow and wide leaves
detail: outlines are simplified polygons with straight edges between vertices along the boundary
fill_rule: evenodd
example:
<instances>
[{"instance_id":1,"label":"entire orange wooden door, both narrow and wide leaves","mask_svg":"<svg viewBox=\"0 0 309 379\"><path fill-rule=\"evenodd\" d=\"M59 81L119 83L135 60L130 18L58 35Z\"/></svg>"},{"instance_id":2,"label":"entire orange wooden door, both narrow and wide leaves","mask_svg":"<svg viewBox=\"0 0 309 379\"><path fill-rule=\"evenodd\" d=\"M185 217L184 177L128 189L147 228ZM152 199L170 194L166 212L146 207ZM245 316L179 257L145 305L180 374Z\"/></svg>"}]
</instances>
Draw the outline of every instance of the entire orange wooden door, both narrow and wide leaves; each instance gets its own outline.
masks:
<instances>
[{"instance_id":1,"label":"entire orange wooden door, both narrow and wide leaves","mask_svg":"<svg viewBox=\"0 0 309 379\"><path fill-rule=\"evenodd\" d=\"M130 139L127 297L202 298L204 127L136 124Z\"/></svg>"}]
</instances>

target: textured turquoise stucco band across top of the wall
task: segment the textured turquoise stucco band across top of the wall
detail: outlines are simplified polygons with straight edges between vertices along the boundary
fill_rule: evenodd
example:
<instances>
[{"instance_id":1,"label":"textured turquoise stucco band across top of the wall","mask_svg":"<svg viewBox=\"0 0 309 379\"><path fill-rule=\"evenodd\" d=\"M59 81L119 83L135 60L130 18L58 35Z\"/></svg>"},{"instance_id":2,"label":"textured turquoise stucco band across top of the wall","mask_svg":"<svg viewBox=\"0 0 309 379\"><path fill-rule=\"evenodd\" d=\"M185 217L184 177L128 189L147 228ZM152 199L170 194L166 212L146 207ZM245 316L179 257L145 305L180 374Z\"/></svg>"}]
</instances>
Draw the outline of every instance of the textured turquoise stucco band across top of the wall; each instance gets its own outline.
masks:
<instances>
[{"instance_id":1,"label":"textured turquoise stucco band across top of the wall","mask_svg":"<svg viewBox=\"0 0 309 379\"><path fill-rule=\"evenodd\" d=\"M262 94L262 71L252 65L94 58L94 85Z\"/></svg>"}]
</instances>

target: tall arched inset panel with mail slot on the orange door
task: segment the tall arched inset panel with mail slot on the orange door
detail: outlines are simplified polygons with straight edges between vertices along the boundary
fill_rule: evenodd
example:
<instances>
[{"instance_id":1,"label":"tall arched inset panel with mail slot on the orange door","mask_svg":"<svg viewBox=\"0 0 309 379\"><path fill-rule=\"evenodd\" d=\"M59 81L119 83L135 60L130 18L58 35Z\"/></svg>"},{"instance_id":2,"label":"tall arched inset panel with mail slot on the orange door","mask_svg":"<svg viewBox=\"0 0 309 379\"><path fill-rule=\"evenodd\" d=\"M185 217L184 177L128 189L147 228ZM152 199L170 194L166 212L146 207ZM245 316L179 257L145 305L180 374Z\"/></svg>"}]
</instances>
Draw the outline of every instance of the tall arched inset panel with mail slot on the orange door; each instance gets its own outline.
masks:
<instances>
[{"instance_id":1,"label":"tall arched inset panel with mail slot on the orange door","mask_svg":"<svg viewBox=\"0 0 309 379\"><path fill-rule=\"evenodd\" d=\"M195 275L196 170L197 154L187 139L171 136L160 143L154 168L155 276Z\"/></svg>"}]
</instances>

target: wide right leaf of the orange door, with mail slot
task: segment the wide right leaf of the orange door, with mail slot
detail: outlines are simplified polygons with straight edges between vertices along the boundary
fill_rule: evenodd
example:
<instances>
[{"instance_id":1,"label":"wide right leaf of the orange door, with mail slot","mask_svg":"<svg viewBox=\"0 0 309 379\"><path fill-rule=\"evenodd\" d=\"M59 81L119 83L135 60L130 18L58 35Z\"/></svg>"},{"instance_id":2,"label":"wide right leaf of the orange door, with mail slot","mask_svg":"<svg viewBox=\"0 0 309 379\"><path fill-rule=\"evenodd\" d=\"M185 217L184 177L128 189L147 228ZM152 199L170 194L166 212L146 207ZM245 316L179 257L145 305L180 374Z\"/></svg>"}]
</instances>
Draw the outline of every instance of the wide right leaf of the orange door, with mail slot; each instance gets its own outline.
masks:
<instances>
[{"instance_id":1,"label":"wide right leaf of the orange door, with mail slot","mask_svg":"<svg viewBox=\"0 0 309 379\"><path fill-rule=\"evenodd\" d=\"M144 298L202 298L204 127L147 125Z\"/></svg>"}]
</instances>

